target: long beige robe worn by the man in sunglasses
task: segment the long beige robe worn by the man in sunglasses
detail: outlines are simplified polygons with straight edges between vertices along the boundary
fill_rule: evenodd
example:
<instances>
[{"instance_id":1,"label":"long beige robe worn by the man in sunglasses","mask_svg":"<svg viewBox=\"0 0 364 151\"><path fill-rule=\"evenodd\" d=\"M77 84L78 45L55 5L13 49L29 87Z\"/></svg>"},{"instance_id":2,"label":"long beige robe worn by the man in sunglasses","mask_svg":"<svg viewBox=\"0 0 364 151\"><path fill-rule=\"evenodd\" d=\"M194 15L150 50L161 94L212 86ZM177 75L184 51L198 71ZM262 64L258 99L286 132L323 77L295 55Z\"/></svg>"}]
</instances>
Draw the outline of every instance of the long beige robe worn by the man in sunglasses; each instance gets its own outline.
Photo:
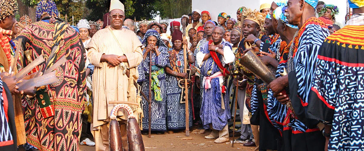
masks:
<instances>
[{"instance_id":1,"label":"long beige robe worn by the man in sunglasses","mask_svg":"<svg viewBox=\"0 0 364 151\"><path fill-rule=\"evenodd\" d=\"M142 43L137 35L128 29L112 30L119 43L111 33L111 28L101 29L95 33L87 45L87 58L95 66L92 75L92 90L94 94L94 120L93 127L101 126L110 121L110 113L116 104L109 101L130 101L136 99L135 86L130 83L126 74L119 67L107 67L107 62L101 62L103 54L125 55L128 62L126 67L130 69L130 80L138 79L137 66L142 61ZM124 53L125 54L124 54ZM132 109L132 105L129 105ZM120 118L127 119L127 113L119 110Z\"/></svg>"}]
</instances>

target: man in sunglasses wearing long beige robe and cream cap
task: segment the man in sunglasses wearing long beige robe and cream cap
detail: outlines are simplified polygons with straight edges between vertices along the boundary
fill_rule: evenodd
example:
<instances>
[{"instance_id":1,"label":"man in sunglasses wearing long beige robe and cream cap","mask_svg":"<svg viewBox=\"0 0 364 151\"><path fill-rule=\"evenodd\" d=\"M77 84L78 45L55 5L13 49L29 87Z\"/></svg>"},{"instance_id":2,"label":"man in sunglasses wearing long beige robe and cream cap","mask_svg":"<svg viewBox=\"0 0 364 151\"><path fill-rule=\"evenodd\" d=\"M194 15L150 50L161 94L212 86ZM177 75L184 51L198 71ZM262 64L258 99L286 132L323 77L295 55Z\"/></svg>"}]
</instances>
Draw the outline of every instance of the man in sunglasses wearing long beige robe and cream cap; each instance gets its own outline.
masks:
<instances>
[{"instance_id":1,"label":"man in sunglasses wearing long beige robe and cream cap","mask_svg":"<svg viewBox=\"0 0 364 151\"><path fill-rule=\"evenodd\" d=\"M95 66L92 75L94 90L92 133L96 151L109 150L109 117L116 105L110 104L110 101L140 103L133 82L138 79L137 66L142 61L142 43L134 32L122 28L124 5L119 0L111 0L109 19L111 26L96 32L87 46L87 57ZM130 72L130 78L125 72ZM134 113L140 110L140 106L129 106ZM127 112L119 110L118 117L124 150L127 150Z\"/></svg>"}]
</instances>

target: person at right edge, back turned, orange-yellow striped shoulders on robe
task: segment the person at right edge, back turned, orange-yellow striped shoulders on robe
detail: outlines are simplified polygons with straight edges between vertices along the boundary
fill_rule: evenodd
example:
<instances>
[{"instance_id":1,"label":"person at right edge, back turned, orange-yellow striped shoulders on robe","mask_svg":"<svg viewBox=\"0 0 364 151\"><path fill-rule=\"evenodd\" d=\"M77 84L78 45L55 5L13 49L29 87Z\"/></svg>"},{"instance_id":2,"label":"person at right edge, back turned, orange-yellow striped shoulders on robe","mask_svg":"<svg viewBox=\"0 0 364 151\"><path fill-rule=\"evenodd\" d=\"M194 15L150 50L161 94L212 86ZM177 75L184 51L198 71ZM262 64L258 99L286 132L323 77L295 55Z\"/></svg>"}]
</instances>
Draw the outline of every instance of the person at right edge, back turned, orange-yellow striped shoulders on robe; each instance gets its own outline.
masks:
<instances>
[{"instance_id":1,"label":"person at right edge, back turned, orange-yellow striped shoulders on robe","mask_svg":"<svg viewBox=\"0 0 364 151\"><path fill-rule=\"evenodd\" d=\"M329 151L356 150L364 145L364 3L348 1L353 16L347 26L327 37L318 50L307 110L309 118L326 125L323 133Z\"/></svg>"}]
</instances>

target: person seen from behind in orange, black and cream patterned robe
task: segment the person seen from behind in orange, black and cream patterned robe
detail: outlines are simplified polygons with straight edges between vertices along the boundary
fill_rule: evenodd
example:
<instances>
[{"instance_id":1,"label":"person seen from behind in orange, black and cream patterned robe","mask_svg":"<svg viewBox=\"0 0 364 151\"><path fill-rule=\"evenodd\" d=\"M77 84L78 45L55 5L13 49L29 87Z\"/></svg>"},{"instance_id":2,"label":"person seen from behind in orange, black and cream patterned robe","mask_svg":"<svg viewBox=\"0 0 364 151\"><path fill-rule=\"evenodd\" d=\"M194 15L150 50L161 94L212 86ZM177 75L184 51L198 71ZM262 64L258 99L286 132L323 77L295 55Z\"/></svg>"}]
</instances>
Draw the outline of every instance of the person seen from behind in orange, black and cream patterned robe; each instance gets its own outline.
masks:
<instances>
[{"instance_id":1,"label":"person seen from behind in orange, black and cream patterned robe","mask_svg":"<svg viewBox=\"0 0 364 151\"><path fill-rule=\"evenodd\" d=\"M16 38L23 39L19 45L23 54L19 56L20 66L27 66L40 55L50 59L54 47L58 47L54 61L66 57L66 63L55 69L58 82L38 88L34 96L24 96L25 130L27 142L39 150L74 151L79 149L86 101L86 55L79 34L58 16L52 0L41 0L36 9L37 22L24 28ZM40 69L36 67L31 73Z\"/></svg>"}]
</instances>

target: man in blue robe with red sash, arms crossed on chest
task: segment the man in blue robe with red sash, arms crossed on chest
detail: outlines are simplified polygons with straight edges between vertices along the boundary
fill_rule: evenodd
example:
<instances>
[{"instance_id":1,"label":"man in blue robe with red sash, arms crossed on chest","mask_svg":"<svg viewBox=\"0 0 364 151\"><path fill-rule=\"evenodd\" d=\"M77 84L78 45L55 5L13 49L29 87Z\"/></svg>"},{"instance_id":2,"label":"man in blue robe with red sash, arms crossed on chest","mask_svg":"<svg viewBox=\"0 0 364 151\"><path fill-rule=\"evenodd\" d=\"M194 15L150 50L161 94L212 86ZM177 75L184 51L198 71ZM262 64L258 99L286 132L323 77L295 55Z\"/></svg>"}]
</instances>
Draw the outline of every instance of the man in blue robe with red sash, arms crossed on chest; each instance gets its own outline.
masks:
<instances>
[{"instance_id":1,"label":"man in blue robe with red sash, arms crossed on chest","mask_svg":"<svg viewBox=\"0 0 364 151\"><path fill-rule=\"evenodd\" d=\"M215 143L229 141L229 92L224 79L229 74L225 65L234 62L235 56L230 43L223 40L224 32L222 26L214 27L212 41L203 45L197 53L197 63L204 76L200 115L203 128L213 129L205 138L215 139Z\"/></svg>"}]
</instances>

